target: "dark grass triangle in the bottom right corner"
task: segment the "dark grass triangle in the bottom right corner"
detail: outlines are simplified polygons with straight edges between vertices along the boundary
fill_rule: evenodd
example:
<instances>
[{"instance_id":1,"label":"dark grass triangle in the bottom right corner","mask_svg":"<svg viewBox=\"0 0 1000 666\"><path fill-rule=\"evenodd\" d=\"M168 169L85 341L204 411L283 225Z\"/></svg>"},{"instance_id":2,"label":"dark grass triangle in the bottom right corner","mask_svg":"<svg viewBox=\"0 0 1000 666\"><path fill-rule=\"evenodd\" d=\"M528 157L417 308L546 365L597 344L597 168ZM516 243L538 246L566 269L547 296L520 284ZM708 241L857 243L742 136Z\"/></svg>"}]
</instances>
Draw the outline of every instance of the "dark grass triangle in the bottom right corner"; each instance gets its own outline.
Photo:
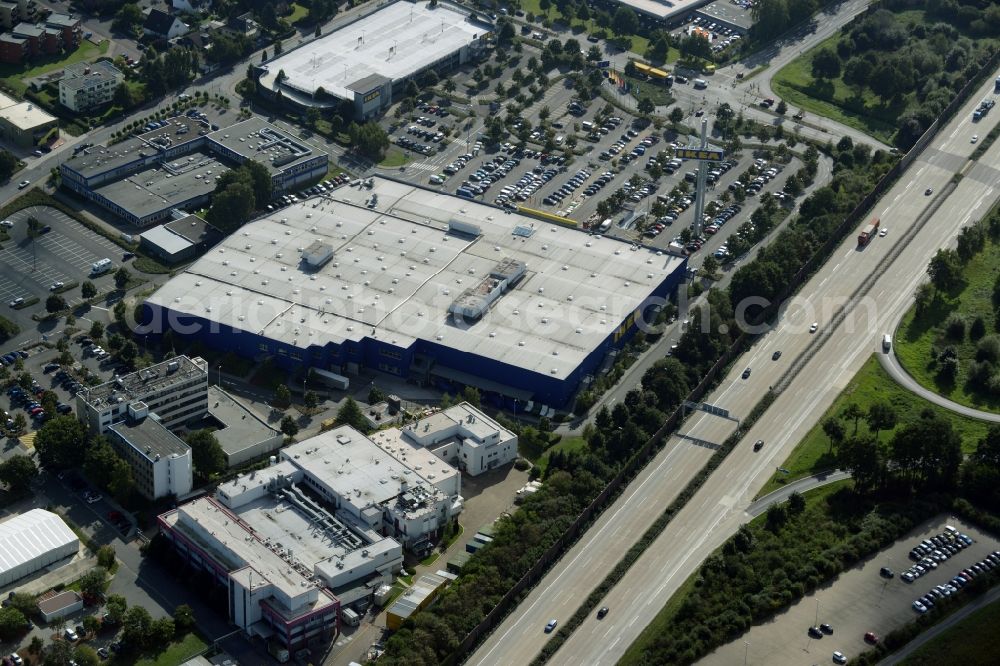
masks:
<instances>
[{"instance_id":1,"label":"dark grass triangle in the bottom right corner","mask_svg":"<svg viewBox=\"0 0 1000 666\"><path fill-rule=\"evenodd\" d=\"M997 657L992 636L998 622L1000 622L1000 603L994 602L941 632L900 663L903 666L995 664Z\"/></svg>"}]
</instances>

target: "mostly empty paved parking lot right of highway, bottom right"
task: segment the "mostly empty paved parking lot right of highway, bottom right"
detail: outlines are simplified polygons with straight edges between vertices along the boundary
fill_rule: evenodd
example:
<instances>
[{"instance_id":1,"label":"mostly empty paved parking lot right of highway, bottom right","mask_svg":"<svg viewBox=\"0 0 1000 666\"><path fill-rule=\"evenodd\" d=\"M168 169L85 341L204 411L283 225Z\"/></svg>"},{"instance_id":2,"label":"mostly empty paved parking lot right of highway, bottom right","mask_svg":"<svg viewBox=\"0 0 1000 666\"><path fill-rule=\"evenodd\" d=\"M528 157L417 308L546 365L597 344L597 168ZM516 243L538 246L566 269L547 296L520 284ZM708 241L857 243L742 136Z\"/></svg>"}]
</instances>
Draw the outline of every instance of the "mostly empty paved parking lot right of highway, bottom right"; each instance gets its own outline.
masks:
<instances>
[{"instance_id":1,"label":"mostly empty paved parking lot right of highway, bottom right","mask_svg":"<svg viewBox=\"0 0 1000 666\"><path fill-rule=\"evenodd\" d=\"M902 580L900 574L914 564L909 557L914 546L946 534L948 525L970 537L972 544L938 562L937 569L929 570L912 583ZM912 621L918 614L913 605L916 599L938 586L947 590L946 586L959 572L977 565L998 548L1000 542L996 539L953 517L928 521L771 621L753 627L719 648L701 663L731 666L744 659L748 664L769 666L832 663L834 651L849 660L868 649L866 634L871 632L879 638ZM894 575L883 576L880 573L883 567ZM961 595L960 586L954 587L959 591L948 594ZM945 592L939 594L944 596ZM820 624L828 624L830 633L821 631L821 637L811 637L809 628Z\"/></svg>"}]
</instances>

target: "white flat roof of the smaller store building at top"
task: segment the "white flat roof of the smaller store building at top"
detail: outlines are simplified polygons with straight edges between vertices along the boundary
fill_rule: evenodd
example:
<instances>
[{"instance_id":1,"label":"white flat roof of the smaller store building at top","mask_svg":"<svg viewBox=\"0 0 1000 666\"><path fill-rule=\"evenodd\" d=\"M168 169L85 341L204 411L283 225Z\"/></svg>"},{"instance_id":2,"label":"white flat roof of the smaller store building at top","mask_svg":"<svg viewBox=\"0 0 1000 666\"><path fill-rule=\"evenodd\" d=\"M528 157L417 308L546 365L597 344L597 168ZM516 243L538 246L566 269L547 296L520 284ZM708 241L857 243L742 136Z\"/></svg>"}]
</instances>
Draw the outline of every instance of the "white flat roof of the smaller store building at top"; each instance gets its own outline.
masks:
<instances>
[{"instance_id":1,"label":"white flat roof of the smaller store building at top","mask_svg":"<svg viewBox=\"0 0 1000 666\"><path fill-rule=\"evenodd\" d=\"M343 99L355 81L378 74L405 78L468 46L489 28L438 4L394 2L326 37L267 63L268 77L284 71L284 85L312 93L322 87Z\"/></svg>"}]
</instances>

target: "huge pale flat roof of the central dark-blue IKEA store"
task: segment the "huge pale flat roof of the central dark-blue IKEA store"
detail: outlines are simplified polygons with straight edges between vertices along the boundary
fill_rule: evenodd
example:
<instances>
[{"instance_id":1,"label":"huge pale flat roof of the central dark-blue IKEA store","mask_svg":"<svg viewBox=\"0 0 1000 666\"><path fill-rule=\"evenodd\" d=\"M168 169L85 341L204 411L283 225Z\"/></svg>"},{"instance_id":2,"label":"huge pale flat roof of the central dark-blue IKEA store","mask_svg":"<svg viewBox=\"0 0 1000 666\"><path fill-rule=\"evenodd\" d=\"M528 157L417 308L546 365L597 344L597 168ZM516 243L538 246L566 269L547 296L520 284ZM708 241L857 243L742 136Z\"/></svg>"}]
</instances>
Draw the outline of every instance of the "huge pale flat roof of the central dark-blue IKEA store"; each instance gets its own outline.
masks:
<instances>
[{"instance_id":1,"label":"huge pale flat roof of the central dark-blue IKEA store","mask_svg":"<svg viewBox=\"0 0 1000 666\"><path fill-rule=\"evenodd\" d=\"M365 207L372 193L374 210ZM481 235L450 234L450 220ZM317 240L335 254L310 272L300 257ZM480 321L450 319L455 299L505 257L525 263L524 278ZM371 190L342 186L244 225L149 302L301 349L423 339L566 378L682 262L375 178Z\"/></svg>"}]
</instances>

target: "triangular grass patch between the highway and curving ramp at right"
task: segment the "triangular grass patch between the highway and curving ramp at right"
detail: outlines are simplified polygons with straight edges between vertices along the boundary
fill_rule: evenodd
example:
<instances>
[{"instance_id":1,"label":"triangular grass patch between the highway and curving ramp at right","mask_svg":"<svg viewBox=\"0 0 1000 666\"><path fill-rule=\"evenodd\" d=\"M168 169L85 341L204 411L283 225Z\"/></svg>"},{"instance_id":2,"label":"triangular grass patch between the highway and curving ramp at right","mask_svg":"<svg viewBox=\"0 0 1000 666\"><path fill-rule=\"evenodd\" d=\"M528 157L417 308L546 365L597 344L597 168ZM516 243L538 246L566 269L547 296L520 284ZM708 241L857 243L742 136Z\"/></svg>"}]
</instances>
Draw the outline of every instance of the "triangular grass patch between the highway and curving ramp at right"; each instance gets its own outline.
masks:
<instances>
[{"instance_id":1,"label":"triangular grass patch between the highway and curving ramp at right","mask_svg":"<svg viewBox=\"0 0 1000 666\"><path fill-rule=\"evenodd\" d=\"M802 477L836 467L834 456L829 452L830 440L824 434L821 424L828 416L839 415L851 403L857 404L862 409L867 409L869 405L879 401L884 401L892 405L893 409L896 410L897 420L900 425L917 418L920 412L927 408L947 418L951 421L952 426L954 426L955 432L962 438L962 450L966 453L975 449L976 443L986 434L988 429L988 424L983 421L961 417L943 407L932 405L902 388L882 370L878 359L872 355L868 359L868 362L858 371L858 374L854 376L851 383L837 396L830 409L823 414L822 418L816 422L816 425L799 442L799 445L792 451L792 455L781 464L781 467L787 469L789 474L776 472L771 477L771 480L767 482L767 485L761 489L758 497L777 490L789 481L801 479ZM847 435L849 437L854 426L852 423L845 423L844 425L847 428ZM858 432L863 433L867 432L867 430L868 426L862 419L858 424ZM882 442L888 442L892 439L893 432L895 431L881 432L879 433L879 439Z\"/></svg>"}]
</instances>

